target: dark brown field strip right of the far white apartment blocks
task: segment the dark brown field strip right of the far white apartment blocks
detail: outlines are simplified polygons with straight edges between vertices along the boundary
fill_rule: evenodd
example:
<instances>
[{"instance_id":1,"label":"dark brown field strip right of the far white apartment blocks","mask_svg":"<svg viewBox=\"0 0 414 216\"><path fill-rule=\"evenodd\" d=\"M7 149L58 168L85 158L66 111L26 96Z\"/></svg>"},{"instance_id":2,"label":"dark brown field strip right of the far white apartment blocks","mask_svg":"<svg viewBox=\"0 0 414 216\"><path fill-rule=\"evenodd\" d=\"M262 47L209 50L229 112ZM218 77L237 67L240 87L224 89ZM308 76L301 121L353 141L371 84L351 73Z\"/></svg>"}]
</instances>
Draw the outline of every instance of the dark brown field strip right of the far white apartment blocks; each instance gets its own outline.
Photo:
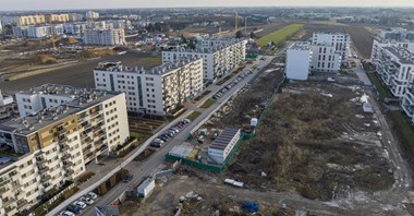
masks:
<instances>
[{"instance_id":1,"label":"dark brown field strip right of the far white apartment blocks","mask_svg":"<svg viewBox=\"0 0 414 216\"><path fill-rule=\"evenodd\" d=\"M345 26L345 29L351 35L351 40L360 52L360 56L364 59L369 59L374 36L365 27L361 26Z\"/></svg>"}]
</instances>

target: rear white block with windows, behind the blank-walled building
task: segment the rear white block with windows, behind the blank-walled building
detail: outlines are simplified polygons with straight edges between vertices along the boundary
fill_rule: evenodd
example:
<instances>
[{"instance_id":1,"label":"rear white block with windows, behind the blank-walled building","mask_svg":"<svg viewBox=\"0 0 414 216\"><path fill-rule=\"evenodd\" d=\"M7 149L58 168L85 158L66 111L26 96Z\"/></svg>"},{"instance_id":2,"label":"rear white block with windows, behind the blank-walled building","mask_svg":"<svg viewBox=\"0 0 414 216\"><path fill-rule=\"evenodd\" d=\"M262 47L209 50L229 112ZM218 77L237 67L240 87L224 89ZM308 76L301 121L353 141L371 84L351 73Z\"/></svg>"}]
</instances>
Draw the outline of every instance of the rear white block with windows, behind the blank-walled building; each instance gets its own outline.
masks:
<instances>
[{"instance_id":1,"label":"rear white block with windows, behind the blank-walled building","mask_svg":"<svg viewBox=\"0 0 414 216\"><path fill-rule=\"evenodd\" d=\"M340 53L342 61L346 61L350 51L350 36L346 33L314 33L313 45L329 46L332 51ZM314 52L315 56L319 53Z\"/></svg>"}]
</instances>

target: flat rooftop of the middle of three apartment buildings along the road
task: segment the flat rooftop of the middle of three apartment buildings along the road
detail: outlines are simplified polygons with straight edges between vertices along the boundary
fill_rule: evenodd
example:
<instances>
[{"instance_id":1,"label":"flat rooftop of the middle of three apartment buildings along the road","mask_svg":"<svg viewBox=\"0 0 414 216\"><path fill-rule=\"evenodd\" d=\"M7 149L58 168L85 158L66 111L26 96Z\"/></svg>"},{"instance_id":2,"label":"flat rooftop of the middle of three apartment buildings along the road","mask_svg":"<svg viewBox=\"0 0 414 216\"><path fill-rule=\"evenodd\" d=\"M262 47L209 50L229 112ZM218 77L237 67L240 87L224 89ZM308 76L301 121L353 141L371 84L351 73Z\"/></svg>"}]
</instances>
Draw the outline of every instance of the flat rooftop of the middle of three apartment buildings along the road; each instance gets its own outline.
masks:
<instances>
[{"instance_id":1,"label":"flat rooftop of the middle of three apartment buildings along the road","mask_svg":"<svg viewBox=\"0 0 414 216\"><path fill-rule=\"evenodd\" d=\"M130 73L139 73L139 74L150 74L150 75L161 75L168 72L171 72L175 69L190 64L194 61L199 60L200 58L181 58L179 61L167 62L151 69L145 69L139 65L122 65L121 61L115 62L100 62L95 70L97 71L111 71L111 72L130 72Z\"/></svg>"}]
</instances>

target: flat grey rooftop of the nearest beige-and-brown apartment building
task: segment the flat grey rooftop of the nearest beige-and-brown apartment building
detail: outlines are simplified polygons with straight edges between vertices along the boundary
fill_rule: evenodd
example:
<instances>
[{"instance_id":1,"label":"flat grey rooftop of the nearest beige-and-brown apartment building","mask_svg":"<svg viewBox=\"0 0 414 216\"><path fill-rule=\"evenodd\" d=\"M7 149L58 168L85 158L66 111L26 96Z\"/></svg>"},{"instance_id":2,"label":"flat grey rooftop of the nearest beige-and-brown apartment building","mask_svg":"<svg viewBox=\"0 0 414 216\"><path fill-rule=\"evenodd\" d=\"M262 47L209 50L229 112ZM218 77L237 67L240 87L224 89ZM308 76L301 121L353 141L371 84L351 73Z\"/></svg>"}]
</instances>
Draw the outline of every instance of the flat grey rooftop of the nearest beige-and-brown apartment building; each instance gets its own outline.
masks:
<instances>
[{"instance_id":1,"label":"flat grey rooftop of the nearest beige-and-brown apartment building","mask_svg":"<svg viewBox=\"0 0 414 216\"><path fill-rule=\"evenodd\" d=\"M53 86L53 91L51 92L36 92L36 89L44 89L44 87L51 89L49 88L51 86ZM27 92L27 94L54 94L60 96L71 96L72 100L54 108L40 110L36 115L12 119L10 121L3 122L0 124L0 130L27 135L38 131L39 129L50 125L61 119L77 113L86 108L98 105L113 96L122 94L75 87L71 87L71 91L69 91L68 86L57 86L60 85L46 84L39 87L32 88L31 92ZM66 92L61 92L62 89L66 89Z\"/></svg>"}]
</instances>

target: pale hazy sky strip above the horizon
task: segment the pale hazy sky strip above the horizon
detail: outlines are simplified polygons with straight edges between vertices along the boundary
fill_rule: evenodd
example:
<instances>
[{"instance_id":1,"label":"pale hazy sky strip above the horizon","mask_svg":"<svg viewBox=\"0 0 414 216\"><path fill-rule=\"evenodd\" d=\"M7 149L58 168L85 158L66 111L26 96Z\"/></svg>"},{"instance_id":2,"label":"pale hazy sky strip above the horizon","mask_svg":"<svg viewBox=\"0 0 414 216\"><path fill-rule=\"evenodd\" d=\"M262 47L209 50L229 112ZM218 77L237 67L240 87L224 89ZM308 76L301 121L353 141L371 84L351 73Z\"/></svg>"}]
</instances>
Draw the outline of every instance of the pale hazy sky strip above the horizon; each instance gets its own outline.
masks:
<instances>
[{"instance_id":1,"label":"pale hazy sky strip above the horizon","mask_svg":"<svg viewBox=\"0 0 414 216\"><path fill-rule=\"evenodd\" d=\"M414 0L0 0L0 10L253 5L414 7Z\"/></svg>"}]
</instances>

